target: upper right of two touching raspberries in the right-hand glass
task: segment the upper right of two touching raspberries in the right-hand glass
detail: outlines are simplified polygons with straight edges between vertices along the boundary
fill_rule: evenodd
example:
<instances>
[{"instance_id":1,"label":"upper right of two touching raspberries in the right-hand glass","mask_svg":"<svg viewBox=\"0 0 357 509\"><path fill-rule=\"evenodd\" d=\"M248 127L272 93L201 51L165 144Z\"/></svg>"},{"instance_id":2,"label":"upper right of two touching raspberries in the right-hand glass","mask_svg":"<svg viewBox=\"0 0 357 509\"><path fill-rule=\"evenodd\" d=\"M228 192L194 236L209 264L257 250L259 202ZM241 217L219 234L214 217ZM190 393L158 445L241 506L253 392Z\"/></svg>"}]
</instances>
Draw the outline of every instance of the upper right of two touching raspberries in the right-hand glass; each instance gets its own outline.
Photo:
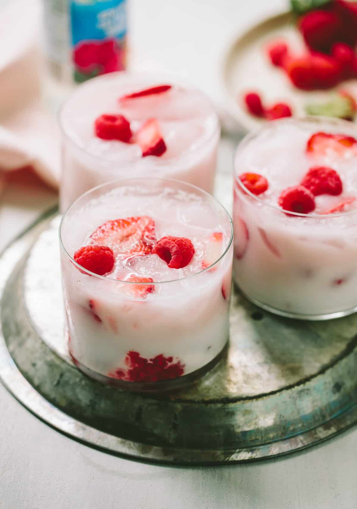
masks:
<instances>
[{"instance_id":1,"label":"upper right of two touching raspberries in the right-hand glass","mask_svg":"<svg viewBox=\"0 0 357 509\"><path fill-rule=\"evenodd\" d=\"M326 166L310 168L300 185L309 189L314 196L319 194L337 196L342 193L342 182L339 174L334 169Z\"/></svg>"}]
</instances>

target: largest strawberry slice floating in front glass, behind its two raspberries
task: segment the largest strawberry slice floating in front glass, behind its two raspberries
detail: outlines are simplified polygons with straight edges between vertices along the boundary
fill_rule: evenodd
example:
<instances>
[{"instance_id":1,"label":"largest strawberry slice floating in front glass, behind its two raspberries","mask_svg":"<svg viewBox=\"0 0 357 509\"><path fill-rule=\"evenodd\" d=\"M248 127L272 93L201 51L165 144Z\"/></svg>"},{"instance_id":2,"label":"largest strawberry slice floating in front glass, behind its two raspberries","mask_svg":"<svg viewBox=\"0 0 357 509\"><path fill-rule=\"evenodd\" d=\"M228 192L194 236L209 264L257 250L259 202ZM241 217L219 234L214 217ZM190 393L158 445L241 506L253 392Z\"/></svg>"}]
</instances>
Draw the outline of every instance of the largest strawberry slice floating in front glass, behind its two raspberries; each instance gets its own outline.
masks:
<instances>
[{"instance_id":1,"label":"largest strawberry slice floating in front glass, behind its two raspberries","mask_svg":"<svg viewBox=\"0 0 357 509\"><path fill-rule=\"evenodd\" d=\"M156 241L155 222L151 217L127 217L107 221L92 233L97 243L105 241L116 255L151 253Z\"/></svg>"}]
</instances>

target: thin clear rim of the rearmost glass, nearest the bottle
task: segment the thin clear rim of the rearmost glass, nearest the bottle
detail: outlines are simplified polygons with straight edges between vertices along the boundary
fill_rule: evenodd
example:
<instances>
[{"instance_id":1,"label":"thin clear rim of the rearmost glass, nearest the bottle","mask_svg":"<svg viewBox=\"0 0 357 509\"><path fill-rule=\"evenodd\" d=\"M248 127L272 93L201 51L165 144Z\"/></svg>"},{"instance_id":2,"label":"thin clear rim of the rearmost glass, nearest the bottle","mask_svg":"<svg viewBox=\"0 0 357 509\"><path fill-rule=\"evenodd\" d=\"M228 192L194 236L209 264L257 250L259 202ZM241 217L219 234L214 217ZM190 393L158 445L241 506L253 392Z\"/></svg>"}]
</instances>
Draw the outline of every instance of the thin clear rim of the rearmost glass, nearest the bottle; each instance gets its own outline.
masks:
<instances>
[{"instance_id":1,"label":"thin clear rim of the rearmost glass, nearest the bottle","mask_svg":"<svg viewBox=\"0 0 357 509\"><path fill-rule=\"evenodd\" d=\"M104 161L104 162L113 163L113 164L123 164L123 165L130 164L130 161L125 161L125 160L121 160L121 159L118 159L118 160L109 159L104 156L92 154L91 152L87 151L84 147L81 147L73 139L71 134L67 131L67 129L64 126L64 122L63 122L64 110L65 110L66 106L69 104L69 102L73 99L73 97L75 97L76 94L80 93L80 91L83 90L84 88L91 88L93 86L93 82L98 82L98 80L106 81L106 80L115 79L115 78L130 79L130 77L133 77L133 78L135 78L135 77L147 77L147 78L153 77L153 79L155 80L157 78L160 79L161 76L167 80L170 80L170 78L172 78L172 86L182 86L186 90L199 92L205 98L205 100L207 101L207 104L210 104L210 106L212 108L212 111L211 111L212 116L215 118L215 125L212 128L212 132L210 132L206 136L205 135L201 136L193 151L191 151L187 154L184 154L184 156L180 155L178 157L176 156L176 157L171 157L170 159L165 159L165 163L160 164L160 167L161 168L168 167L168 166L170 166L170 164L172 164L173 161L185 162L186 159L189 159L190 157L192 157L192 154L196 154L205 143L209 143L212 138L214 138L217 134L220 133L221 124L219 121L219 117L218 117L216 108L213 104L213 101L201 90L193 87L190 84L184 84L184 78L182 78L181 76L177 76L175 74L170 74L170 73L165 73L165 72L154 72L154 71L138 71L138 72L116 71L116 72L110 72L107 74L103 74L102 76L96 76L95 78L91 78L91 79L88 79L87 81L84 81L78 87L76 87L74 89L74 91L69 95L69 97L67 97L67 99L64 101L64 103L61 105L61 107L59 108L59 110L57 112L57 123L59 125L59 128L61 129L62 135L67 140L69 140L69 142L72 143L76 147L76 149L79 150L82 154L85 154L86 156L89 156L95 160L98 160L101 162ZM107 112L106 114L110 115L109 112Z\"/></svg>"}]
</instances>

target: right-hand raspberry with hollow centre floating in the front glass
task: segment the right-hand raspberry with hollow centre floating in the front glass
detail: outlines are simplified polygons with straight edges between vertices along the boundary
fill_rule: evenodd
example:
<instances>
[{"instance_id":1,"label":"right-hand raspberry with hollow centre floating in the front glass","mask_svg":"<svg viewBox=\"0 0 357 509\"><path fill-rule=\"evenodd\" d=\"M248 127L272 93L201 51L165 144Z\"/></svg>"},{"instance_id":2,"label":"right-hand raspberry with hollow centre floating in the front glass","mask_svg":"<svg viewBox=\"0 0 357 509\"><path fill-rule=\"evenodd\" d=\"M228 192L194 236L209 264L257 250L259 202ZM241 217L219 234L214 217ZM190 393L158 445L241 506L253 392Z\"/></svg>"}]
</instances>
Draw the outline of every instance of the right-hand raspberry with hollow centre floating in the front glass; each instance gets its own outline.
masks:
<instances>
[{"instance_id":1,"label":"right-hand raspberry with hollow centre floating in the front glass","mask_svg":"<svg viewBox=\"0 0 357 509\"><path fill-rule=\"evenodd\" d=\"M192 242L184 237L162 237L153 247L153 253L164 260L170 269L186 267L195 253Z\"/></svg>"}]
</instances>

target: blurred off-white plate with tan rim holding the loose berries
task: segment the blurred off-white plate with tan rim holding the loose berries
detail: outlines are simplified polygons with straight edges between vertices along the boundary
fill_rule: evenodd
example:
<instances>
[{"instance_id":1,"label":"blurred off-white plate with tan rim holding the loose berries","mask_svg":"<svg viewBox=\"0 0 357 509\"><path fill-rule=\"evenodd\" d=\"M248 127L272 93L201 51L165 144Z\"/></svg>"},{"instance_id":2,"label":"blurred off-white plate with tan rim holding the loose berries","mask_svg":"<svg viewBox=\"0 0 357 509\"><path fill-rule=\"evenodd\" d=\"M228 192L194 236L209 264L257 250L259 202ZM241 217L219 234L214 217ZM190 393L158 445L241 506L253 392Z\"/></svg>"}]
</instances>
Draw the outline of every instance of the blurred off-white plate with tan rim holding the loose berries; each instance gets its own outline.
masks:
<instances>
[{"instance_id":1,"label":"blurred off-white plate with tan rim holding the loose berries","mask_svg":"<svg viewBox=\"0 0 357 509\"><path fill-rule=\"evenodd\" d=\"M230 115L247 131L261 126L263 119L248 114L243 101L247 91L261 94L264 105L287 102L294 116L304 116L307 103L324 102L328 91L305 92L293 86L283 70L273 66L265 46L277 39L285 39L294 53L306 52L303 38L296 29L292 13L284 12L265 18L236 37L226 50L222 63L226 108ZM357 98L357 80L342 82L338 88L351 92Z\"/></svg>"}]
</instances>

